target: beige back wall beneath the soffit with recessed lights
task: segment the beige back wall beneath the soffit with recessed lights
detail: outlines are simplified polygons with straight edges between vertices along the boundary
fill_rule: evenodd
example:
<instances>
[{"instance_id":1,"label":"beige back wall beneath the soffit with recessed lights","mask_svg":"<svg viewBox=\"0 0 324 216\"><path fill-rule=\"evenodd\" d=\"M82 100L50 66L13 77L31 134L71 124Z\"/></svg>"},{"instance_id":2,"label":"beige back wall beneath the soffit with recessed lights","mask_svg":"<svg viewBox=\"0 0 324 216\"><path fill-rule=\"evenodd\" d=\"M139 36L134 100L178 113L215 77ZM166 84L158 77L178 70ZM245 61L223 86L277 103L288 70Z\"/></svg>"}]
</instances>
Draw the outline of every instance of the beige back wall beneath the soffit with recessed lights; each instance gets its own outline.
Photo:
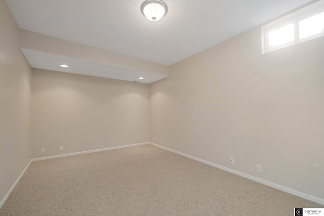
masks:
<instances>
[{"instance_id":1,"label":"beige back wall beneath the soffit with recessed lights","mask_svg":"<svg viewBox=\"0 0 324 216\"><path fill-rule=\"evenodd\" d=\"M139 82L33 69L33 158L148 142L148 90Z\"/></svg>"}]
</instances>

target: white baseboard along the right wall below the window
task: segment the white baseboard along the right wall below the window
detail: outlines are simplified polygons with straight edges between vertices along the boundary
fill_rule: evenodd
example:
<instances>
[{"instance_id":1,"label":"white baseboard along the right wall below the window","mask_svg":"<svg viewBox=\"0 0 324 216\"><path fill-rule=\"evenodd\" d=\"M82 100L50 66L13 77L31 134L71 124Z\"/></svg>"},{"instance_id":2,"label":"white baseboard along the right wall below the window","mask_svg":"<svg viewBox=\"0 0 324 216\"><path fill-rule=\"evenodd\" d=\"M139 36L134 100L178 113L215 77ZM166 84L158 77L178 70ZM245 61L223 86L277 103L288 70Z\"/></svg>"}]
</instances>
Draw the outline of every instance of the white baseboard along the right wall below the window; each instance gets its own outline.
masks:
<instances>
[{"instance_id":1,"label":"white baseboard along the right wall below the window","mask_svg":"<svg viewBox=\"0 0 324 216\"><path fill-rule=\"evenodd\" d=\"M254 176L250 176L248 174L245 174L243 172L239 172L239 171L236 171L234 169L230 169L230 168L227 168L225 166L221 166L221 165L218 165L216 163L212 163L212 162L209 162L207 160L203 160L203 159L200 159L200 158L197 158L197 157L194 157L194 156L191 156L191 155L188 155L188 154L185 154L185 153L182 153L182 152L179 152L179 151L176 151L176 150L173 150L173 149L169 149L167 147L164 147L164 146L160 146L160 145L157 145L155 143L150 143L151 145L153 146L156 146L158 148L161 148L161 149L165 149L165 150L168 150L168 151L171 151L173 153L176 153L176 154L179 154L179 155L182 155L182 156L185 156L185 157L188 157L190 159L193 159L193 160L196 160L196 161L199 161L199 162L202 162L202 163L205 163L205 164L208 164L208 165L211 165L211 166L214 166L216 168L219 168L219 169L222 169L222 170L225 170L225 171L228 171L228 172L231 172L232 174L235 174L237 176L241 176L241 177L244 177L246 179L250 179L250 180L253 180L255 182L258 182L258 183L261 183L263 185L267 185L271 188L275 188L275 189L278 189L280 191L284 191L284 192L287 192L287 193L290 193L290 194L293 194L295 196L299 196L301 198L304 198L304 199L308 199L310 201L313 201L313 202L316 202L316 203L319 203L319 204L322 204L324 205L324 199L320 199L320 198L317 198L317 197L314 197L314 196L311 196L311 195L308 195L308 194L305 194L305 193L301 193L299 191L295 191L293 189L290 189L290 188L286 188L284 186L281 186L281 185L277 185L275 183L272 183L272 182L268 182L268 181L265 181L263 179L259 179L257 177L254 177Z\"/></svg>"}]
</instances>

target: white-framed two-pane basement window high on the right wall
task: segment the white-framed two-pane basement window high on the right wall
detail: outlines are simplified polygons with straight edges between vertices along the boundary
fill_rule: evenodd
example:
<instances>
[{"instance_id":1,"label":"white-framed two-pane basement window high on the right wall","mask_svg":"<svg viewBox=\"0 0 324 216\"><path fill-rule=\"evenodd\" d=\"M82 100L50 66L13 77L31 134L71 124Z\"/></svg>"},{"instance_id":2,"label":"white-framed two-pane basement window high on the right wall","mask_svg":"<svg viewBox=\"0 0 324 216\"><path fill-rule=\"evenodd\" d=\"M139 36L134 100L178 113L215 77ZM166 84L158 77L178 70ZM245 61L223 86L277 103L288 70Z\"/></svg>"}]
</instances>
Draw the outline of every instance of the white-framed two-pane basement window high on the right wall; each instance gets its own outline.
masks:
<instances>
[{"instance_id":1,"label":"white-framed two-pane basement window high on the right wall","mask_svg":"<svg viewBox=\"0 0 324 216\"><path fill-rule=\"evenodd\" d=\"M261 27L262 54L324 36L324 0Z\"/></svg>"}]
</instances>

